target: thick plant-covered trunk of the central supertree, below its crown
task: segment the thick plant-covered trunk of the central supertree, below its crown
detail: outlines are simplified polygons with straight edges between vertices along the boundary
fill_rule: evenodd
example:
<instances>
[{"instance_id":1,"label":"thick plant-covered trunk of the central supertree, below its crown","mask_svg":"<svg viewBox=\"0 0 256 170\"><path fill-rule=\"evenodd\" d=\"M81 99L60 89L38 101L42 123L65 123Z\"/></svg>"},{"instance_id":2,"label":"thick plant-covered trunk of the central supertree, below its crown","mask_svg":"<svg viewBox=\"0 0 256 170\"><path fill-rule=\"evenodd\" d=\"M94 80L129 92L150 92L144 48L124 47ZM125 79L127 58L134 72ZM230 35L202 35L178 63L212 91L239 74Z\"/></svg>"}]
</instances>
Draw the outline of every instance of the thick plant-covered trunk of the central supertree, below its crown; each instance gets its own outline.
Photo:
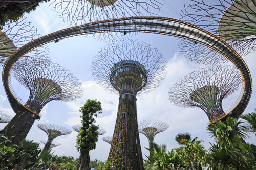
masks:
<instances>
[{"instance_id":1,"label":"thick plant-covered trunk of the central supertree, below its crown","mask_svg":"<svg viewBox=\"0 0 256 170\"><path fill-rule=\"evenodd\" d=\"M137 121L136 96L121 94L108 161L114 169L144 169Z\"/></svg>"}]
</instances>

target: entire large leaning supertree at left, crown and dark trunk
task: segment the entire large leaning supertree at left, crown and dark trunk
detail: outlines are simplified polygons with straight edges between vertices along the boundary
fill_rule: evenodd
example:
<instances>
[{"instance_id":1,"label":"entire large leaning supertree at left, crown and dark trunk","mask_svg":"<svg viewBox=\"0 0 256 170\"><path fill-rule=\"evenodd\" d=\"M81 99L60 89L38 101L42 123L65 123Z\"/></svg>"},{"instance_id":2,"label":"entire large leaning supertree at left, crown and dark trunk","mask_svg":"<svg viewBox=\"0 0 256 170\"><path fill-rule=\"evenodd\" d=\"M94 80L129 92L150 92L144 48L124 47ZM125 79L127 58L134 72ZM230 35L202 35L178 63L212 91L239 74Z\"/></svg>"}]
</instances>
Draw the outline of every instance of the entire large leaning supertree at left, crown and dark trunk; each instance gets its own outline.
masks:
<instances>
[{"instance_id":1,"label":"entire large leaning supertree at left, crown and dark trunk","mask_svg":"<svg viewBox=\"0 0 256 170\"><path fill-rule=\"evenodd\" d=\"M20 58L14 65L13 76L29 91L29 99L23 105L35 114L16 111L16 115L4 128L6 135L13 135L13 143L24 139L41 109L50 101L73 101L82 95L80 82L67 69L50 61Z\"/></svg>"}]
</instances>

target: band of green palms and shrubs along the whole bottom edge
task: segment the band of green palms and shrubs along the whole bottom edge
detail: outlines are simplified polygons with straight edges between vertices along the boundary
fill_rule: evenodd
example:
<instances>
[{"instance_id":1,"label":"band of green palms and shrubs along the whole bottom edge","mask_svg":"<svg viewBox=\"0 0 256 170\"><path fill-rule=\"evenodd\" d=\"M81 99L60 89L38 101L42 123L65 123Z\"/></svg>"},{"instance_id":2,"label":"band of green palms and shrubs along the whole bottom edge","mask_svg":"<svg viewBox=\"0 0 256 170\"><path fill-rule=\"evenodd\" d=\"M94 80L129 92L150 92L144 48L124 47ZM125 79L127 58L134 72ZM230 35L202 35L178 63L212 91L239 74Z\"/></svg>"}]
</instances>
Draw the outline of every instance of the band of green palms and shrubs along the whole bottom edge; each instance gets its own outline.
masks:
<instances>
[{"instance_id":1,"label":"band of green palms and shrubs along the whole bottom edge","mask_svg":"<svg viewBox=\"0 0 256 170\"><path fill-rule=\"evenodd\" d=\"M170 151L166 151L164 144L154 143L154 149L151 150L153 154L144 160L144 167L160 170L204 167L207 169L255 169L256 147L245 143L248 133L256 132L255 115L250 113L241 116L246 120L245 123L238 119L227 118L226 122L219 121L207 127L208 133L215 140L215 143L210 143L211 147L208 149L204 147L202 140L198 137L191 138L189 133L179 133L176 141L180 147ZM13 145L10 142L11 139L12 137L0 134L1 169L5 167L11 169L14 164L18 164L19 169L40 169L48 168L51 163L54 163L55 168L60 164L61 169L76 169L78 159L71 156L56 156L50 152L40 155L41 149L38 143L23 140L19 145ZM110 166L110 162L94 160L90 161L89 169L108 169Z\"/></svg>"}]
</instances>

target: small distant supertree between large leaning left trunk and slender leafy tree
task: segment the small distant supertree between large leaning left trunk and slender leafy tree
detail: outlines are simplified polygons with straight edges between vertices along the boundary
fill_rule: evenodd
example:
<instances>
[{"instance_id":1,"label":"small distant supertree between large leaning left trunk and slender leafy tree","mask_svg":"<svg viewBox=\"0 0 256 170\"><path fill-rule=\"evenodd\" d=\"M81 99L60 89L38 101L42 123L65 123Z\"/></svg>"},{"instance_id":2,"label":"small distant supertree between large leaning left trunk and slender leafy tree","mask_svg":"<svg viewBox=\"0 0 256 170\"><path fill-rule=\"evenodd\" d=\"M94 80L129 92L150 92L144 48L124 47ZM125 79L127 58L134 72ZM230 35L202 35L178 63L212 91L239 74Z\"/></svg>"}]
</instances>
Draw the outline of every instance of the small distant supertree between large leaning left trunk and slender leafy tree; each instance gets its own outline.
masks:
<instances>
[{"instance_id":1,"label":"small distant supertree between large leaning left trunk and slender leafy tree","mask_svg":"<svg viewBox=\"0 0 256 170\"><path fill-rule=\"evenodd\" d=\"M47 151L50 150L53 139L61 135L68 135L72 132L71 130L65 127L54 125L54 124L38 124L37 127L42 131L44 131L48 136L48 140L45 143L45 147L41 153L44 153L44 151L46 150Z\"/></svg>"}]
</instances>

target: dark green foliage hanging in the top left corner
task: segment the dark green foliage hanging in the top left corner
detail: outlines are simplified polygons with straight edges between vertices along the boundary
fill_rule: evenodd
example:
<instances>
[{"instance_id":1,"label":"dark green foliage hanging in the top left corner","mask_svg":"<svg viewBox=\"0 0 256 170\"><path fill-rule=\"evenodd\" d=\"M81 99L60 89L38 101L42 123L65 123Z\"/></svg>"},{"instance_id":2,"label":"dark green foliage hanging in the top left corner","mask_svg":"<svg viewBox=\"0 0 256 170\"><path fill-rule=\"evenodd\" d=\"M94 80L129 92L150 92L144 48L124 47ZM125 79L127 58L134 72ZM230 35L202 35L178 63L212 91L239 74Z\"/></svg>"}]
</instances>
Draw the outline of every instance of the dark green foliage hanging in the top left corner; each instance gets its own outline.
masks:
<instances>
[{"instance_id":1,"label":"dark green foliage hanging in the top left corner","mask_svg":"<svg viewBox=\"0 0 256 170\"><path fill-rule=\"evenodd\" d=\"M50 0L30 0L26 3L3 3L2 6L4 8L0 11L0 29L6 22L19 20L25 12L29 13L35 10L39 6L39 3L47 1Z\"/></svg>"}]
</instances>

